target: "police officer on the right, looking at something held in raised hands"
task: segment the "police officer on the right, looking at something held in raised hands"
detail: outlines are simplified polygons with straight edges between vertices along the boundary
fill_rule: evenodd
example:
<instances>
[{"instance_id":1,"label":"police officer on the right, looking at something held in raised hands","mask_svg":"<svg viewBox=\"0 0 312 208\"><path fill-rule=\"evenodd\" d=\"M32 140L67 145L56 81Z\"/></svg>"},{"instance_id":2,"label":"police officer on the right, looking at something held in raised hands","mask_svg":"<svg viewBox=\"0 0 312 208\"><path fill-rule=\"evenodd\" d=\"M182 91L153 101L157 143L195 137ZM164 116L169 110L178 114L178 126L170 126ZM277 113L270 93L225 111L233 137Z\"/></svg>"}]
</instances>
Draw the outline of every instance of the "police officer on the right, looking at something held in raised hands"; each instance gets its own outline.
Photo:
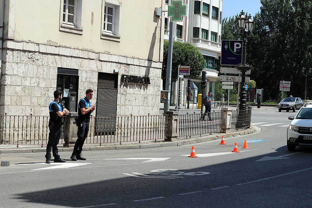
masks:
<instances>
[{"instance_id":1,"label":"police officer on the right, looking at something held in raised hands","mask_svg":"<svg viewBox=\"0 0 312 208\"><path fill-rule=\"evenodd\" d=\"M91 99L93 97L93 90L87 89L85 91L85 98L80 99L78 104L78 119L77 119L77 140L74 146L74 151L71 154L71 160L86 160L85 157L82 157L81 151L82 146L85 143L85 139L88 136L89 124L90 124L90 115L95 110L95 105L91 104Z\"/></svg>"}]
</instances>

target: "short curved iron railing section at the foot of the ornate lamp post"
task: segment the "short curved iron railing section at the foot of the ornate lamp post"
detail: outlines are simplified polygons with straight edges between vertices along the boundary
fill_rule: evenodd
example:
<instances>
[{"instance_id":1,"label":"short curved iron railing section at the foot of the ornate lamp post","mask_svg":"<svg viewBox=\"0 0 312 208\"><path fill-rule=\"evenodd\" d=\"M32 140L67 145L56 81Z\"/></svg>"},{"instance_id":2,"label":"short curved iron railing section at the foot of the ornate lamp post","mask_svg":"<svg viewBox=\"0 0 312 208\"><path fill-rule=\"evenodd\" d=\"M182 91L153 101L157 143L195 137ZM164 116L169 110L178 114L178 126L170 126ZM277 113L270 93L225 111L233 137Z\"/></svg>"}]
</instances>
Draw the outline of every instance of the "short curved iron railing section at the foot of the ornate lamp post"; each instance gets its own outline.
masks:
<instances>
[{"instance_id":1,"label":"short curved iron railing section at the foot of the ornate lamp post","mask_svg":"<svg viewBox=\"0 0 312 208\"><path fill-rule=\"evenodd\" d=\"M247 107L246 110L238 111L232 110L231 111L231 129L246 129L250 128L251 122L251 108Z\"/></svg>"}]
</instances>

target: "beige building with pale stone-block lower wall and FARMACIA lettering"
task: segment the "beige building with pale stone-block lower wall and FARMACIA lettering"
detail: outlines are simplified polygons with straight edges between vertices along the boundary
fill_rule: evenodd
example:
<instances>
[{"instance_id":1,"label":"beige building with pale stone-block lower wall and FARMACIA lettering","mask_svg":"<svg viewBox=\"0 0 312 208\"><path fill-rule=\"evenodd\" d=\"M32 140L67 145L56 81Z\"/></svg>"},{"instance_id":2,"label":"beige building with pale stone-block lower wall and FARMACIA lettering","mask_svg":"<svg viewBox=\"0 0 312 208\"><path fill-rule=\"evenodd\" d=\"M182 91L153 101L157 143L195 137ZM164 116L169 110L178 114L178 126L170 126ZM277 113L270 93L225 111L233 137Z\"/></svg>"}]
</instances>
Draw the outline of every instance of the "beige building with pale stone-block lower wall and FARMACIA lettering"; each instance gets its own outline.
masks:
<instances>
[{"instance_id":1,"label":"beige building with pale stone-block lower wall and FARMACIA lettering","mask_svg":"<svg viewBox=\"0 0 312 208\"><path fill-rule=\"evenodd\" d=\"M0 115L48 115L55 89L76 112L89 88L94 116L159 114L164 5L2 0Z\"/></svg>"}]
</instances>

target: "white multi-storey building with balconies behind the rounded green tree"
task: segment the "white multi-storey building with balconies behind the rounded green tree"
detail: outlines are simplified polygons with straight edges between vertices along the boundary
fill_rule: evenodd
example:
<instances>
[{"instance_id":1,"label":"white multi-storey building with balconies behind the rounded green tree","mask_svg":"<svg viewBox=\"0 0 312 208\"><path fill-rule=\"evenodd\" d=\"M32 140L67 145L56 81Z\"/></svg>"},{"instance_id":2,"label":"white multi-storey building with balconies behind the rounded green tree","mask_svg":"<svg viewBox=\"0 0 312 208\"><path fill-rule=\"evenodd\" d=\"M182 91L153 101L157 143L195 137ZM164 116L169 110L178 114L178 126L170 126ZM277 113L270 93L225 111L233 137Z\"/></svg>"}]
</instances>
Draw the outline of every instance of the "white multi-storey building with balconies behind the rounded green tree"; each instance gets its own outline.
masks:
<instances>
[{"instance_id":1,"label":"white multi-storey building with balconies behind the rounded green tree","mask_svg":"<svg viewBox=\"0 0 312 208\"><path fill-rule=\"evenodd\" d=\"M193 44L206 60L204 71L206 71L206 88L204 96L208 91L214 94L215 82L219 80L218 71L216 70L216 59L221 56L221 30L222 30L222 0L184 0L187 5L187 17L182 22L174 23L174 40L186 41ZM172 4L172 0L166 0L166 8ZM169 39L169 19L166 12L165 35L164 39ZM192 70L192 69L191 69ZM201 81L201 75L198 80ZM176 103L177 83L172 83L171 102ZM181 84L181 101L180 104L186 103L187 80ZM198 88L200 88L198 86Z\"/></svg>"}]
</instances>

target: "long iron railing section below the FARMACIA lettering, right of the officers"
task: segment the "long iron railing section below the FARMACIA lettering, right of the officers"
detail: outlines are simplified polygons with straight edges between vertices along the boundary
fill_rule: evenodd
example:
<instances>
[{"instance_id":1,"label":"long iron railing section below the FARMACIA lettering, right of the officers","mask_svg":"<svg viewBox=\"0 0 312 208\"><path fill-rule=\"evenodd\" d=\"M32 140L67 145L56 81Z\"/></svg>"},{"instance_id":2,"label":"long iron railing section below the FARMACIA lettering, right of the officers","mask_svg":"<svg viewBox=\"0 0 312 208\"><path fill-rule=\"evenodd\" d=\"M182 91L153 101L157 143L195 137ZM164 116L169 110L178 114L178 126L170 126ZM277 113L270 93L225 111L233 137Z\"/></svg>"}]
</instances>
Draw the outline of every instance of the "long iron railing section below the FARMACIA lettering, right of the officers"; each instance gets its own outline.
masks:
<instances>
[{"instance_id":1,"label":"long iron railing section below the FARMACIA lettering, right of the officers","mask_svg":"<svg viewBox=\"0 0 312 208\"><path fill-rule=\"evenodd\" d=\"M85 143L116 143L164 139L166 115L91 117L89 137Z\"/></svg>"}]
</instances>

